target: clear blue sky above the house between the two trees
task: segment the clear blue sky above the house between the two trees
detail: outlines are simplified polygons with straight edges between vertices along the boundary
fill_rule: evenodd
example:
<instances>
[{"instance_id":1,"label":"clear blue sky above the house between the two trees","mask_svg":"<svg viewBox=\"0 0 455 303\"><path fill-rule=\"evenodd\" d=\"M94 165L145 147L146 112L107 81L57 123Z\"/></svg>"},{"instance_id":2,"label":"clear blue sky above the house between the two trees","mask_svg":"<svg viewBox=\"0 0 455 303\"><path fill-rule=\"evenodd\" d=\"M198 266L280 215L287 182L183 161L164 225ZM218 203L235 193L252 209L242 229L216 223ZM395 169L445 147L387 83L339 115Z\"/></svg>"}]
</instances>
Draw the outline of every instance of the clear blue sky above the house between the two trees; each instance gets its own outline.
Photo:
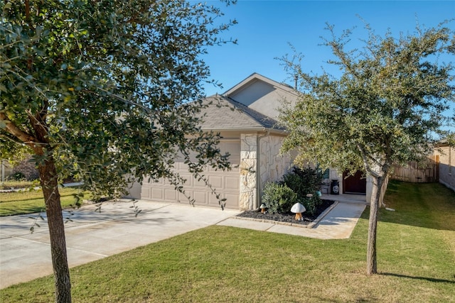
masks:
<instances>
[{"instance_id":1,"label":"clear blue sky above the house between the two trees","mask_svg":"<svg viewBox=\"0 0 455 303\"><path fill-rule=\"evenodd\" d=\"M320 45L326 23L335 26L336 33L355 28L358 38L367 38L363 21L377 34L390 29L393 35L414 33L417 21L426 27L437 26L445 19L455 18L455 1L237 1L225 7L220 1L208 1L220 6L224 21L236 19L238 24L223 33L221 38L237 39L238 44L215 46L208 49L203 59L210 66L211 78L223 84L223 89L205 86L210 96L223 93L253 72L293 85L277 57L291 55L289 43L294 45L303 60L306 72L321 73L321 66L331 51ZM455 21L449 23L455 28ZM361 47L354 38L350 45ZM329 70L331 71L331 70Z\"/></svg>"}]
</instances>

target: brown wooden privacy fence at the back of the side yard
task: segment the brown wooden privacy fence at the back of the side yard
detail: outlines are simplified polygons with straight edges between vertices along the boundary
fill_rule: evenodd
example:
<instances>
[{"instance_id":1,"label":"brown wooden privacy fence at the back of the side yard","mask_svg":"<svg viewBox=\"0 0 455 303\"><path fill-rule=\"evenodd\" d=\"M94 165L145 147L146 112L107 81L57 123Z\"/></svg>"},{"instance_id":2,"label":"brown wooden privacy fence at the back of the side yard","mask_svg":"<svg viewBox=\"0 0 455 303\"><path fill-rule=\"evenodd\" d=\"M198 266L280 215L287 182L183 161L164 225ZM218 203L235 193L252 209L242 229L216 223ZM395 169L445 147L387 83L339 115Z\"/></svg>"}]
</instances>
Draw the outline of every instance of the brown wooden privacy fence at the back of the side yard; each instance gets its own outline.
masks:
<instances>
[{"instance_id":1,"label":"brown wooden privacy fence at the back of the side yard","mask_svg":"<svg viewBox=\"0 0 455 303\"><path fill-rule=\"evenodd\" d=\"M411 161L405 166L394 165L392 180L414 183L439 181L439 155L432 155L422 162Z\"/></svg>"}]
</instances>

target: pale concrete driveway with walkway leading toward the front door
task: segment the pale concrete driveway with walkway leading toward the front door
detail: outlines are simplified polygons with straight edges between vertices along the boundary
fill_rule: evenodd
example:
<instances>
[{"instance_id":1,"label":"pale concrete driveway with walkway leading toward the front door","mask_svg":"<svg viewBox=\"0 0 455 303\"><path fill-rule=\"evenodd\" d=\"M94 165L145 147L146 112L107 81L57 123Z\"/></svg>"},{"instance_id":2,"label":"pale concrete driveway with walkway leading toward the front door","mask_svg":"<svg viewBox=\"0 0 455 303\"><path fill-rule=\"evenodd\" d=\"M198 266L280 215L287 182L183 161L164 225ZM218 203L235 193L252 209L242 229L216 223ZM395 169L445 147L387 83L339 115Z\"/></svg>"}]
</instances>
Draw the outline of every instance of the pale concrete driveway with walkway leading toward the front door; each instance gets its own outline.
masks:
<instances>
[{"instance_id":1,"label":"pale concrete driveway with walkway leading toward the front door","mask_svg":"<svg viewBox=\"0 0 455 303\"><path fill-rule=\"evenodd\" d=\"M311 238L349 238L365 209L365 204L338 203L314 228L301 228L232 219L240 211L229 209L145 201L136 205L142 210L137 217L127 201L105 202L101 213L94 211L95 205L83 206L73 215L65 211L64 218L73 220L65 224L70 267L213 224ZM38 219L41 227L30 233L30 216L0 218L0 289L53 272L47 222Z\"/></svg>"}]
</instances>

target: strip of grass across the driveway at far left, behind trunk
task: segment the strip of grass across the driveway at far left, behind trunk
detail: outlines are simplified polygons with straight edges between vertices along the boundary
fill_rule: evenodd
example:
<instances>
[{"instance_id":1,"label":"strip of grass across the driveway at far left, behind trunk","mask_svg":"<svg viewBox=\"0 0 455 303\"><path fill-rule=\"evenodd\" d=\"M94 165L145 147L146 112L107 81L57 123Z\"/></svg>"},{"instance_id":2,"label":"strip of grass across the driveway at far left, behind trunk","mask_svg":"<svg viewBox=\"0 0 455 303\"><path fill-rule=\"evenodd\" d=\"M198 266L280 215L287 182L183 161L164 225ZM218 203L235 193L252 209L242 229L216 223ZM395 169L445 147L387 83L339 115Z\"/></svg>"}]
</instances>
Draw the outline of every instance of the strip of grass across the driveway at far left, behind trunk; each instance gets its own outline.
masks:
<instances>
[{"instance_id":1,"label":"strip of grass across the driveway at far left, behind trunk","mask_svg":"<svg viewBox=\"0 0 455 303\"><path fill-rule=\"evenodd\" d=\"M75 187L59 188L60 203L63 208L75 204L74 194L79 194L80 189ZM29 189L23 192L0 193L0 216L14 214L31 214L45 211L43 192L41 189Z\"/></svg>"}]
</instances>

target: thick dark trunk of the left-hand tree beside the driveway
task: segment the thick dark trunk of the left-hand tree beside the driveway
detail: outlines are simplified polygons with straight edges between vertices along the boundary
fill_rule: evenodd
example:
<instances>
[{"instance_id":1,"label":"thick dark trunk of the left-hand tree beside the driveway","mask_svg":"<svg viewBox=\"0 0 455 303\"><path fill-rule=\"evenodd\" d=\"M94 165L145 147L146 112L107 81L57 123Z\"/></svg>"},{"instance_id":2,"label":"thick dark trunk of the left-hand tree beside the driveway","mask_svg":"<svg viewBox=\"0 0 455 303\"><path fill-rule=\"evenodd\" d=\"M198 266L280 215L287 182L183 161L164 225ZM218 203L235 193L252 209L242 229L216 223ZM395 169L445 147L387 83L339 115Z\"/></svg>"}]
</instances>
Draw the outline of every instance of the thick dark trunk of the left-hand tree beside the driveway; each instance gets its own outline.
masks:
<instances>
[{"instance_id":1,"label":"thick dark trunk of the left-hand tree beside the driveway","mask_svg":"<svg viewBox=\"0 0 455 303\"><path fill-rule=\"evenodd\" d=\"M58 193L58 177L53 157L38 166L48 216L50 252L55 282L55 302L71 302L70 270L66 254L65 226Z\"/></svg>"}]
</instances>

